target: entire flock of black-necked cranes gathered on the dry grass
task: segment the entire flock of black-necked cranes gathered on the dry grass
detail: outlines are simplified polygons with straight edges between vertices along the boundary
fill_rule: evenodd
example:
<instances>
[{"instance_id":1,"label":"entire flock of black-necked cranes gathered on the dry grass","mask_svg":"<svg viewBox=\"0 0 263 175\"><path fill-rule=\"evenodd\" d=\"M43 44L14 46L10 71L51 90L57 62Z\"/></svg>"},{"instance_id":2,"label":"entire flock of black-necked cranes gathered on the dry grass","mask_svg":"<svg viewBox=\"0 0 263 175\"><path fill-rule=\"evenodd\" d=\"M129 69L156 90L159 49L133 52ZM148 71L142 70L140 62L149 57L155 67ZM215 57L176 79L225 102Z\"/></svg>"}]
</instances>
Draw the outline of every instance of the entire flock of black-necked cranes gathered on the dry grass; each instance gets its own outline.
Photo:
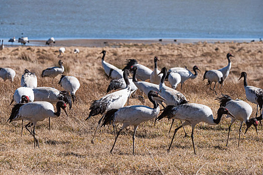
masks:
<instances>
[{"instance_id":1,"label":"entire flock of black-necked cranes gathered on the dry grass","mask_svg":"<svg viewBox=\"0 0 263 175\"><path fill-rule=\"evenodd\" d=\"M19 38L19 42L26 43L27 37ZM11 42L15 41L15 37ZM2 41L3 43L3 41ZM49 38L46 42L47 44L55 43L53 37ZM4 49L4 46L3 46ZM3 50L2 49L2 50ZM61 47L59 49L59 56L62 56L62 53L65 52L65 48ZM75 49L74 53L79 53L79 49ZM176 90L176 87L181 83L181 89L183 83L191 78L194 79L197 77L197 70L201 71L198 66L193 66L192 73L189 69L183 67L172 67L167 71L166 67L163 67L158 70L157 62L160 61L159 57L154 57L154 70L151 70L145 65L140 64L136 59L126 59L124 63L124 68L120 69L116 66L106 62L104 60L106 51L102 50L101 64L105 71L105 74L111 78L111 81L106 89L106 95L102 96L100 99L93 100L89 107L89 114L86 117L88 120L91 116L96 116L101 114L102 116L98 120L97 127L95 129L93 138L91 142L94 144L94 137L98 128L106 124L111 124L114 131L114 142L110 153L114 148L116 140L120 132L129 125L134 126L133 132L133 154L135 154L135 135L138 126L142 122L149 121L153 118L156 118L155 121L160 120L164 117L168 119L179 119L182 124L175 128L171 143L169 145L168 151L170 151L175 134L178 129L186 125L192 126L191 139L193 144L194 153L196 154L195 144L194 144L194 128L199 122L205 122L209 125L219 124L223 114L226 114L227 117L231 118L230 125L228 127L228 136L226 141L226 146L228 145L229 133L232 123L235 120L240 121L239 137L238 137L238 146L240 142L240 132L243 122L246 124L245 133L248 128L253 125L257 133L258 121L261 123L262 119L262 105L263 105L263 90L258 87L248 86L247 84L247 74L246 72L241 72L240 78L244 78L244 89L247 100L252 103L257 104L257 109L259 106L260 115L251 117L252 107L245 101L236 99L233 100L229 95L222 94L217 96L215 99L219 100L219 108L217 110L217 118L214 118L212 109L204 104L193 103L188 101L186 96L180 91ZM229 75L231 68L230 57L234 57L232 54L227 53L228 65L220 69L206 70L203 75L203 80L208 79L207 85L210 85L210 89L213 90L216 95L215 90L216 83L222 85ZM160 61L161 62L161 61ZM30 132L34 139L34 147L39 147L39 141L36 138L35 126L38 121L43 121L47 117L58 117L61 114L61 108L67 114L66 106L69 104L69 109L72 107L72 102L75 103L76 91L80 87L79 80L74 76L64 75L64 66L63 61L59 60L59 66L49 67L42 71L41 76L50 76L52 77L52 83L54 78L61 74L61 78L58 82L64 90L60 91L54 87L38 87L37 86L37 76L35 73L29 71L25 68L24 73L21 78L21 87L15 90L13 99L10 103L12 104L15 101L15 105L12 108L9 121L17 120L27 120L28 124L25 128ZM132 74L133 78L128 78L128 75ZM6 80L10 79L14 81L16 72L9 68L0 68L0 76ZM168 78L171 86L165 84L165 80ZM240 79L239 78L239 79ZM138 80L140 79L140 80ZM150 82L147 82L150 81ZM212 82L214 82L214 88L211 88ZM153 108L146 105L129 105L129 97L135 97L136 92L142 91L145 95L148 96L148 99L153 103ZM111 92L112 90L116 90ZM109 93L111 92L111 93ZM139 99L144 102L144 97L140 96ZM142 100L143 99L143 100ZM127 106L125 106L127 102ZM57 111L55 112L53 104L56 104ZM163 109L160 109L159 104L163 106ZM166 106L165 106L166 105ZM162 111L163 110L163 111ZM159 115L162 111L161 115ZM159 115L159 116L158 116ZM172 121L172 124L173 124ZM102 123L101 123L102 122ZM122 123L120 130L115 134L115 124ZM33 130L29 129L29 126L33 126ZM50 128L50 120L49 120ZM172 125L170 127L170 130ZM22 124L23 132L23 124ZM170 132L170 131L169 131ZM185 135L187 135L185 131Z\"/></svg>"}]
</instances>

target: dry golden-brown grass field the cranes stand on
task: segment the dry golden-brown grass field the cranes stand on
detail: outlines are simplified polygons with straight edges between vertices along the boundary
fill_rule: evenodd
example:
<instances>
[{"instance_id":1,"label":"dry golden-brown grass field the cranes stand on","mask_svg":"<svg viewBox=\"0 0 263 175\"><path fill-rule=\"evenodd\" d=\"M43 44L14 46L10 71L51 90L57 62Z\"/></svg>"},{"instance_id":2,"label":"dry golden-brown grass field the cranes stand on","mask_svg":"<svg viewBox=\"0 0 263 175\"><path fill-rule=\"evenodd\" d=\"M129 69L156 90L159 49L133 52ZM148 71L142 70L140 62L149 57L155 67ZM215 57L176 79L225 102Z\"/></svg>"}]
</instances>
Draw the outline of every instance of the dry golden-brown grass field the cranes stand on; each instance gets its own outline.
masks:
<instances>
[{"instance_id":1,"label":"dry golden-brown grass field the cranes stand on","mask_svg":"<svg viewBox=\"0 0 263 175\"><path fill-rule=\"evenodd\" d=\"M91 117L85 121L89 113L89 105L94 99L105 95L109 79L101 66L102 49L107 51L105 61L123 67L125 59L136 58L139 63L153 69L154 56L160 58L158 67L187 66L189 69L197 65L201 73L193 80L187 80L183 90L190 102L208 105L217 117L219 107L215 94L203 81L205 70L218 69L227 65L226 53L232 53L232 68L219 93L230 95L248 102L255 116L256 105L246 100L243 79L238 81L241 71L246 71L248 84L263 87L263 43L206 43L196 44L114 44L105 47L78 47L78 56L73 54L74 47L66 47L62 57L66 75L76 76L80 88L76 92L77 101L69 111L69 117L62 114L51 119L51 130L48 119L38 122L36 136L40 148L34 149L33 137L24 129L21 137L21 121L8 123L12 106L10 101L16 88L20 86L24 68L36 72L38 86L51 86L62 90L57 85L59 77L52 84L52 78L42 78L43 69L57 65L59 47L19 46L6 47L0 53L0 66L11 67L16 71L14 83L0 79L0 172L1 174L161 174L156 163L165 174L263 174L263 129L258 126L249 128L244 135L242 127L240 146L238 143L239 122L231 128L228 147L225 147L230 119L222 117L218 125L210 126L199 123L195 127L194 140L197 154L193 152L190 137L184 137L183 129L178 130L171 151L170 144L174 128L168 134L171 120L153 120L139 125L135 144L136 156L132 154L133 127L128 127L118 137L113 154L110 148L114 141L112 126L101 128L94 144L91 138L97 121L101 116ZM192 68L191 68L192 69ZM56 83L55 83L56 82ZM166 82L170 86L169 82ZM139 93L139 91L137 92ZM146 96L145 96L146 97ZM137 99L130 99L130 104L141 104ZM147 99L145 105L152 106ZM121 125L118 125L119 129ZM186 130L191 133L191 127Z\"/></svg>"}]
</instances>

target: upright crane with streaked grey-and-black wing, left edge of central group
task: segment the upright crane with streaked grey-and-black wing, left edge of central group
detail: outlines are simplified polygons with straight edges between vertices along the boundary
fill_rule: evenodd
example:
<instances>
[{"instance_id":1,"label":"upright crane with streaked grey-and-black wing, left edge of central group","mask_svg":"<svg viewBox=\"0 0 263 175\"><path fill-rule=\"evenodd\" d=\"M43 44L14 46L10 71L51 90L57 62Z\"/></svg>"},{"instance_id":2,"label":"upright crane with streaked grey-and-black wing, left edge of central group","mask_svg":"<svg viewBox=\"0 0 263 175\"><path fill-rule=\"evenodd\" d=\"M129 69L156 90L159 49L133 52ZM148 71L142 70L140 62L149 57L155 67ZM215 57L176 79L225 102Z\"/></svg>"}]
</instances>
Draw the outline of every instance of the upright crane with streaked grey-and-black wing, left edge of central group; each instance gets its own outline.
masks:
<instances>
[{"instance_id":1,"label":"upright crane with streaked grey-and-black wing, left edge of central group","mask_svg":"<svg viewBox=\"0 0 263 175\"><path fill-rule=\"evenodd\" d=\"M129 70L125 69L123 71L123 78L126 84L126 87L124 89L109 93L98 100L92 101L92 104L89 107L90 112L86 120L89 119L91 116L102 114L102 117L98 121L94 136L91 140L92 143L94 143L93 139L96 135L100 122L104 118L106 112L109 111L110 109L113 108L118 109L125 105L128 96L130 94L130 84L128 80L128 75L129 75Z\"/></svg>"}]
</instances>

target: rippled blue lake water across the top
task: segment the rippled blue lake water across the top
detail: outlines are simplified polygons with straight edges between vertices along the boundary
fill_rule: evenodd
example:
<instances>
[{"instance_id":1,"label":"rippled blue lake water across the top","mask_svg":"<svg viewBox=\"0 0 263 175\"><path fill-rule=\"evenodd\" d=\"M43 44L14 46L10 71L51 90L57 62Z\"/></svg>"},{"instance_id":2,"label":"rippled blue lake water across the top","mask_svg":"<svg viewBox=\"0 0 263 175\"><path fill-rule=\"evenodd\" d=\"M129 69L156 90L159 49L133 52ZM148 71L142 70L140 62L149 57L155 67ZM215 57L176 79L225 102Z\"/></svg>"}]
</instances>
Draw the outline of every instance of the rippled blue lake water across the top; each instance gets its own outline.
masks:
<instances>
[{"instance_id":1,"label":"rippled blue lake water across the top","mask_svg":"<svg viewBox=\"0 0 263 175\"><path fill-rule=\"evenodd\" d=\"M263 38L263 0L0 0L0 38Z\"/></svg>"}]
</instances>

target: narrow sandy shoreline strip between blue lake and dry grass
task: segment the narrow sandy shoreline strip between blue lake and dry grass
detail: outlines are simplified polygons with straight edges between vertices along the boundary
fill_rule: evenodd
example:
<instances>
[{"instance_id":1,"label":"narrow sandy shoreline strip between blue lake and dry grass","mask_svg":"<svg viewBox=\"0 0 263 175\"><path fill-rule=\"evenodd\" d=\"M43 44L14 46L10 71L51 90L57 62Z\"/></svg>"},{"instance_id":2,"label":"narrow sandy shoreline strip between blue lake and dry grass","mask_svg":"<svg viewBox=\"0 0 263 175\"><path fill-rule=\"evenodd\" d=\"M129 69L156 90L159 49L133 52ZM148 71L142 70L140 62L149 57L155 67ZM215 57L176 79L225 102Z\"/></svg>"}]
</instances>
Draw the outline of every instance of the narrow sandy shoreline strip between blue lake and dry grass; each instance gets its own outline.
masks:
<instances>
[{"instance_id":1,"label":"narrow sandy shoreline strip between blue lake and dry grass","mask_svg":"<svg viewBox=\"0 0 263 175\"><path fill-rule=\"evenodd\" d=\"M30 39L29 39L30 40ZM219 39L219 38L181 38L181 39L56 39L54 46L89 46L89 47L104 47L104 46L115 46L118 44L152 44L152 43L161 43L161 44L171 44L171 43L197 43L197 42L250 42L251 39ZM255 40L255 41L258 41ZM8 40L4 39L6 46L12 46ZM21 45L18 42L15 42L13 46ZM46 40L30 40L30 43L26 45L29 46L46 46Z\"/></svg>"}]
</instances>

